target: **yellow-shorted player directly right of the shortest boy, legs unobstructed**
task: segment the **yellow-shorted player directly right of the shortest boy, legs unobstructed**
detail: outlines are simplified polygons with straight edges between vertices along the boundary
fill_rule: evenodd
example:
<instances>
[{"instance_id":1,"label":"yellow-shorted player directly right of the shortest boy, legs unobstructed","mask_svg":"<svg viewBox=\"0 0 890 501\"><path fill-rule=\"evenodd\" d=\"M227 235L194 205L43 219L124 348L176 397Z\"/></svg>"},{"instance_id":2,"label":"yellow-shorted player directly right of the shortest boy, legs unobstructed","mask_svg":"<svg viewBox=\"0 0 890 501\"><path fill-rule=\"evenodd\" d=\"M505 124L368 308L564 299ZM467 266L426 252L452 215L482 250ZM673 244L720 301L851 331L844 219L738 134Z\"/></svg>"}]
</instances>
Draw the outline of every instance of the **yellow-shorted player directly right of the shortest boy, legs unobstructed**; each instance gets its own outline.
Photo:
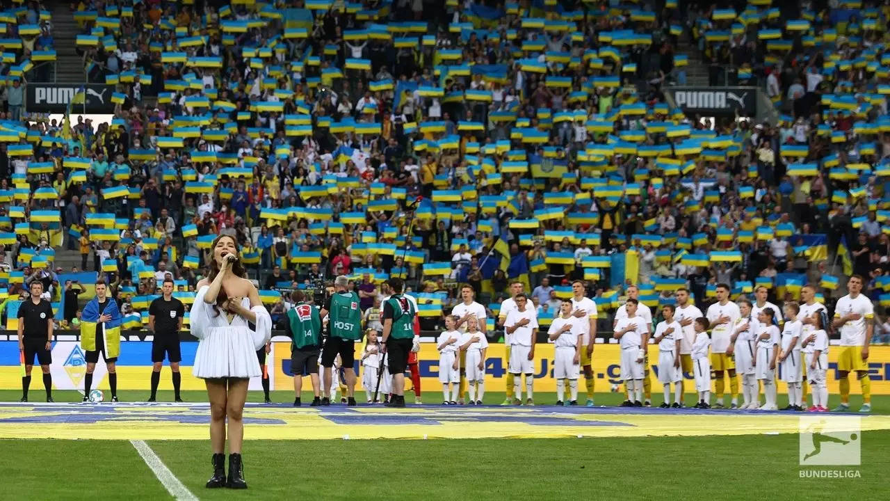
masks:
<instances>
[{"instance_id":1,"label":"yellow-shorted player directly right of the shortest boy, legs unobstructed","mask_svg":"<svg viewBox=\"0 0 890 501\"><path fill-rule=\"evenodd\" d=\"M732 394L732 408L739 407L739 381L735 375L735 362L726 354L729 338L736 321L741 316L739 305L729 300L729 285L717 283L717 302L708 307L708 322L711 327L711 370L716 378L714 407L724 407L724 372L729 375L729 388Z\"/></svg>"}]
</instances>

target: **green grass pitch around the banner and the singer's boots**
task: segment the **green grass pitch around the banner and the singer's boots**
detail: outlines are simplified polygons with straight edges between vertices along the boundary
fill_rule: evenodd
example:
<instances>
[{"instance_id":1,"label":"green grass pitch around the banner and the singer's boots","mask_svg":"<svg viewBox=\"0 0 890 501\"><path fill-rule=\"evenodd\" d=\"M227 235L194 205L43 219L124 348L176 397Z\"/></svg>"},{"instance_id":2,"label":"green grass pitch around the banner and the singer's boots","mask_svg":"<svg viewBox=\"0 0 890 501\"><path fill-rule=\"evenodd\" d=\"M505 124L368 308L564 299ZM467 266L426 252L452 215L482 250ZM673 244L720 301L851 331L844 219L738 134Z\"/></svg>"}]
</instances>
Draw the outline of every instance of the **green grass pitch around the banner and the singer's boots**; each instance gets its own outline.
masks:
<instances>
[{"instance_id":1,"label":"green grass pitch around the banner and the singer's boots","mask_svg":"<svg viewBox=\"0 0 890 501\"><path fill-rule=\"evenodd\" d=\"M34 388L31 400L43 401ZM109 395L106 395L109 397ZM187 401L206 401L201 391ZM363 397L364 395L360 395ZM19 391L0 391L14 401ZM57 402L77 401L56 391ZM127 402L148 397L121 391ZM158 393L172 400L171 392ZM250 401L262 401L259 391ZM599 393L597 405L617 405L619 393ZM488 405L503 393L486 395ZM555 396L537 393L538 405ZM784 396L780 396L780 403ZM272 392L279 403L289 391ZM304 405L311 395L303 395ZM653 395L656 405L660 393ZM360 400L361 401L361 400ZM409 405L412 394L408 396ZM441 392L424 394L441 403ZM692 403L692 397L687 401ZM853 408L860 398L853 397ZM831 404L837 404L837 397ZM873 414L890 414L890 397L873 398ZM247 491L205 489L209 444L202 440L153 440L149 445L199 499L871 499L886 492L890 431L862 434L858 478L802 479L795 434L721 437L450 440L248 440ZM2 499L168 499L136 450L123 440L0 440Z\"/></svg>"}]
</instances>

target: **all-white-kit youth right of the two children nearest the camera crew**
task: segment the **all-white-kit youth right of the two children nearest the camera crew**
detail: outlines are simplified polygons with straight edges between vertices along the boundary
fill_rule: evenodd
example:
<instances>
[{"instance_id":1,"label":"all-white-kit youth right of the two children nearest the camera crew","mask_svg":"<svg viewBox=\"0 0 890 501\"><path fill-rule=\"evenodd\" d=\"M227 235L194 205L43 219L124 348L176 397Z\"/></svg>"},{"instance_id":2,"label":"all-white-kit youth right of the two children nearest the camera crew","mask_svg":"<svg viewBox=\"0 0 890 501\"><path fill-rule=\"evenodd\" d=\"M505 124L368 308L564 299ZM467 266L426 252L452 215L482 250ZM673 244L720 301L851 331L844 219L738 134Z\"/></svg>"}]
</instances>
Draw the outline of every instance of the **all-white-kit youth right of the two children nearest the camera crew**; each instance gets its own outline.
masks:
<instances>
[{"instance_id":1,"label":"all-white-kit youth right of the two children nearest the camera crew","mask_svg":"<svg viewBox=\"0 0 890 501\"><path fill-rule=\"evenodd\" d=\"M513 375L515 403L522 403L522 375L525 374L525 405L533 406L535 382L535 341L538 336L538 316L528 308L529 300L524 293L518 294L516 309L506 316L504 325L510 334L510 365L507 372Z\"/></svg>"}]
</instances>

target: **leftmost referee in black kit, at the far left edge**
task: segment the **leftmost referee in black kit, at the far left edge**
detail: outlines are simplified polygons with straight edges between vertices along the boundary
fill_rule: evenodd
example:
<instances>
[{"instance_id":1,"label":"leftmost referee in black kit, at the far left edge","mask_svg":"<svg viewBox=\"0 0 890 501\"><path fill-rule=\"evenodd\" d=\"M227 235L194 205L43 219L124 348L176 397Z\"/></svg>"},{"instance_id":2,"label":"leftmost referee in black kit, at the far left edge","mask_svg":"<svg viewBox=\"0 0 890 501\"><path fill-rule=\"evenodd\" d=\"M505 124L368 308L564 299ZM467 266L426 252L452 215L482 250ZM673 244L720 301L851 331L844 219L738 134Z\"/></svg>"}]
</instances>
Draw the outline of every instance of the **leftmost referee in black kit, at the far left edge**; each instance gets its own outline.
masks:
<instances>
[{"instance_id":1,"label":"leftmost referee in black kit, at the far left edge","mask_svg":"<svg viewBox=\"0 0 890 501\"><path fill-rule=\"evenodd\" d=\"M28 401L28 387L31 385L31 369L34 368L34 357L40 363L44 373L46 401L53 402L53 376L50 364L53 355L50 351L53 342L53 307L50 302L41 299L44 283L39 280L31 282L31 298L19 308L19 351L25 362L25 375L21 378L20 402Z\"/></svg>"}]
</instances>

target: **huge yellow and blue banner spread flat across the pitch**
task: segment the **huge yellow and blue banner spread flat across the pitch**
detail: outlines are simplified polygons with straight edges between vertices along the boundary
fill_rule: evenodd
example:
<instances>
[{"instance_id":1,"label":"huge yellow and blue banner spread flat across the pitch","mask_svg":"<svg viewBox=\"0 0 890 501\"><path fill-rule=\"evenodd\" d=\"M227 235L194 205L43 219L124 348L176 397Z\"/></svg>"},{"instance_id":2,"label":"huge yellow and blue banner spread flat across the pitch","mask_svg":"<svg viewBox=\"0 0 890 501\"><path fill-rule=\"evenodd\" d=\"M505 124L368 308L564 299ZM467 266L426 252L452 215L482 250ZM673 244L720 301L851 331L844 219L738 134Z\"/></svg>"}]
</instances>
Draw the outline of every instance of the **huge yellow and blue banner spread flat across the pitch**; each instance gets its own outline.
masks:
<instances>
[{"instance_id":1,"label":"huge yellow and blue banner spread flat across the pitch","mask_svg":"<svg viewBox=\"0 0 890 501\"><path fill-rule=\"evenodd\" d=\"M247 404L246 439L481 439L797 433L781 412L621 407L390 409ZM843 419L826 415L825 419ZM0 404L0 439L201 439L206 404ZM862 416L862 431L890 429L890 415Z\"/></svg>"}]
</instances>

